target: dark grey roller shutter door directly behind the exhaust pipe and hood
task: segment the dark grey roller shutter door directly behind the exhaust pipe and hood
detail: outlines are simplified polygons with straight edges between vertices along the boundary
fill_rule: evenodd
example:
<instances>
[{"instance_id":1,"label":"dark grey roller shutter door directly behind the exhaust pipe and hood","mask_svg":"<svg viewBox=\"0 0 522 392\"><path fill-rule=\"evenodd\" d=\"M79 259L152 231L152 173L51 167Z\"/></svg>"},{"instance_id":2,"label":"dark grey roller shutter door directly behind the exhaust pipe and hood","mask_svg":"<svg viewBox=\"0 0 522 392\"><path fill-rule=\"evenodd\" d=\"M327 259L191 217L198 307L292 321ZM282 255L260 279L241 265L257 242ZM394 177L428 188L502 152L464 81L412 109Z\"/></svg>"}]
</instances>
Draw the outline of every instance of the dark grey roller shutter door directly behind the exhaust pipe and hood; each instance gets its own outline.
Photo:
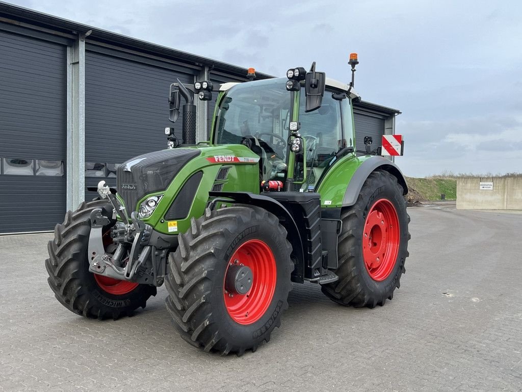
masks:
<instances>
[{"instance_id":1,"label":"dark grey roller shutter door directly behind the exhaust pipe and hood","mask_svg":"<svg viewBox=\"0 0 522 392\"><path fill-rule=\"evenodd\" d=\"M194 73L190 72L87 51L86 186L96 186L103 179L114 187L115 176L108 172L112 164L167 147L163 130L172 126L168 120L169 86L176 78L193 84ZM181 139L181 116L173 126ZM96 196L86 192L86 200Z\"/></svg>"}]
</instances>

